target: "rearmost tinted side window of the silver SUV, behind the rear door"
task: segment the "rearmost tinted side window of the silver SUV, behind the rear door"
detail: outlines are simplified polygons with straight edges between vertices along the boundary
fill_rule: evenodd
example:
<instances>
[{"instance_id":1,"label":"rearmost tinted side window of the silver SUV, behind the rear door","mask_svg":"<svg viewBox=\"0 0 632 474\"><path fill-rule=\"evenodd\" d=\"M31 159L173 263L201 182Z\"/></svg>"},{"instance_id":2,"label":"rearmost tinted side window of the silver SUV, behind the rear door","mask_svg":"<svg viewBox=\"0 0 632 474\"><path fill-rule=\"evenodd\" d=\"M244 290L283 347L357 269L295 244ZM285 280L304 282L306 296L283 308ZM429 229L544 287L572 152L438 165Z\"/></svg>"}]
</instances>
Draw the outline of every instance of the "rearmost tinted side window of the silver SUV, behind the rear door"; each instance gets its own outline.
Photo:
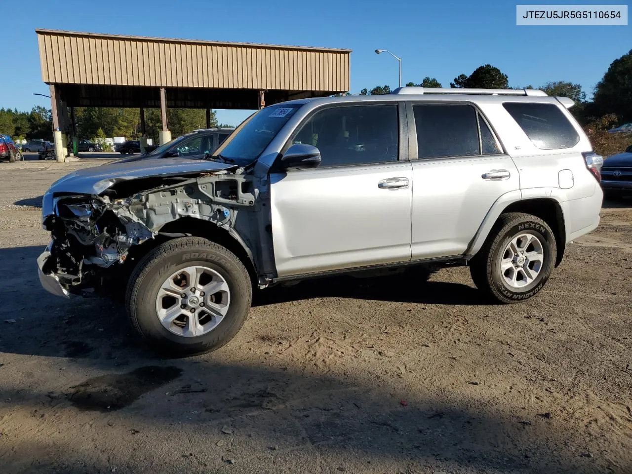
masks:
<instances>
[{"instance_id":1,"label":"rearmost tinted side window of the silver SUV, behind the rear door","mask_svg":"<svg viewBox=\"0 0 632 474\"><path fill-rule=\"evenodd\" d=\"M572 148L580 141L573 125L554 104L504 102L502 106L539 149Z\"/></svg>"}]
</instances>

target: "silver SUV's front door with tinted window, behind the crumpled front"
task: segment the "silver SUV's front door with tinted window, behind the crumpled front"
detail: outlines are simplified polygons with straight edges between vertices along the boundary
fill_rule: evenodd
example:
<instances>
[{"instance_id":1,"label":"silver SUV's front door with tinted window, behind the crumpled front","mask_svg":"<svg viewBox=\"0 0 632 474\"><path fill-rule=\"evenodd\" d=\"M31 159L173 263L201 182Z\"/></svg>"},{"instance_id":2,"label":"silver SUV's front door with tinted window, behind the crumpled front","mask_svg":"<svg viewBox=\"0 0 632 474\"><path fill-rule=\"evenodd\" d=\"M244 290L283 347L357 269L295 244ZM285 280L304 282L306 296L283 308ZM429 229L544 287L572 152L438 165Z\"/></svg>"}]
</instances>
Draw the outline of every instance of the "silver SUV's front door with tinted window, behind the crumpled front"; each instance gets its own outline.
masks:
<instances>
[{"instance_id":1,"label":"silver SUV's front door with tinted window, behind the crumpled front","mask_svg":"<svg viewBox=\"0 0 632 474\"><path fill-rule=\"evenodd\" d=\"M410 260L413 176L398 105L329 106L297 130L292 142L317 147L322 164L270 174L278 276Z\"/></svg>"}]
</instances>

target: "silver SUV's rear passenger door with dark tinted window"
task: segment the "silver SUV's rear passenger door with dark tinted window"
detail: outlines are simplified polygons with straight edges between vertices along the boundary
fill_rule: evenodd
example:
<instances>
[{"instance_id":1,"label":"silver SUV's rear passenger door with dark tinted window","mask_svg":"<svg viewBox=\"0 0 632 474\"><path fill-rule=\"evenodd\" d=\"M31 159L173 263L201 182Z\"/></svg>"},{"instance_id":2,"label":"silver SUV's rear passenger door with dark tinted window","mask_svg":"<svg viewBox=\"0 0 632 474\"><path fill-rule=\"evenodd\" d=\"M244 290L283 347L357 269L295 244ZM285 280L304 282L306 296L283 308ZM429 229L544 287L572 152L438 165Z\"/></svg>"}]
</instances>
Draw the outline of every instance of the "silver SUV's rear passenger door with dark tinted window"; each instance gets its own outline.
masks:
<instances>
[{"instance_id":1,"label":"silver SUV's rear passenger door with dark tinted window","mask_svg":"<svg viewBox=\"0 0 632 474\"><path fill-rule=\"evenodd\" d=\"M518 169L473 104L407 106L415 123L412 258L463 255L494 202L520 190Z\"/></svg>"}]
</instances>

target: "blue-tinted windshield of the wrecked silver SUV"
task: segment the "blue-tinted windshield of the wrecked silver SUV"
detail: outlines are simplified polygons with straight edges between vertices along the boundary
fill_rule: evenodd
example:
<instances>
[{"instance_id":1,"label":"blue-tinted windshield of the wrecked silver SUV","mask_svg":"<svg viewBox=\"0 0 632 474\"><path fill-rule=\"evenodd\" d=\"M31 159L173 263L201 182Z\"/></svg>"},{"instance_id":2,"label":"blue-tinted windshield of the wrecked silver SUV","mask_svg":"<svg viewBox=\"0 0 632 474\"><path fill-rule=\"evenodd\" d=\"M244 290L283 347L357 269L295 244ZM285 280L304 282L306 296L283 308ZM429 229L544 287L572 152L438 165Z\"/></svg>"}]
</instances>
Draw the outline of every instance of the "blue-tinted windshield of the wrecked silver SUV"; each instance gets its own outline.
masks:
<instances>
[{"instance_id":1,"label":"blue-tinted windshield of the wrecked silver SUV","mask_svg":"<svg viewBox=\"0 0 632 474\"><path fill-rule=\"evenodd\" d=\"M255 161L299 107L301 104L265 107L248 119L241 130L236 130L213 155L221 155L238 164Z\"/></svg>"}]
</instances>

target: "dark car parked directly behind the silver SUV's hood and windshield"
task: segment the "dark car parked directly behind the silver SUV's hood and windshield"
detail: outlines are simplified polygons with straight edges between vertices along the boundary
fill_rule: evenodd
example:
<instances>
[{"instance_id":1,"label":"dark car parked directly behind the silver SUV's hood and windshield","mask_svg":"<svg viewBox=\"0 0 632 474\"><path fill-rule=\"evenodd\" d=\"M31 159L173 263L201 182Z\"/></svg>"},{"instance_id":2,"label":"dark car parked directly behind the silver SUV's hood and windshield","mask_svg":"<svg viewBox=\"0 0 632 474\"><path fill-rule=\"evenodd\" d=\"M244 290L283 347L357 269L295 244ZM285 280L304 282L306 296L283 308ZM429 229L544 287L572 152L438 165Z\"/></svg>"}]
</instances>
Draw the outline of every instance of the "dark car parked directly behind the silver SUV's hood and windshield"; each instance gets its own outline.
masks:
<instances>
[{"instance_id":1,"label":"dark car parked directly behind the silver SUV's hood and windshield","mask_svg":"<svg viewBox=\"0 0 632 474\"><path fill-rule=\"evenodd\" d=\"M200 130L194 130L190 133L185 133L185 135L180 135L160 147L154 147L154 150L147 150L147 153L142 157L171 158L178 156L210 155L224 143L226 138L230 137L233 131L234 128L202 128ZM138 146L138 150L140 151L140 144ZM121 150L123 149L121 148ZM121 151L121 154L122 153L123 151ZM130 161L139 158L141 157L124 160Z\"/></svg>"}]
</instances>

